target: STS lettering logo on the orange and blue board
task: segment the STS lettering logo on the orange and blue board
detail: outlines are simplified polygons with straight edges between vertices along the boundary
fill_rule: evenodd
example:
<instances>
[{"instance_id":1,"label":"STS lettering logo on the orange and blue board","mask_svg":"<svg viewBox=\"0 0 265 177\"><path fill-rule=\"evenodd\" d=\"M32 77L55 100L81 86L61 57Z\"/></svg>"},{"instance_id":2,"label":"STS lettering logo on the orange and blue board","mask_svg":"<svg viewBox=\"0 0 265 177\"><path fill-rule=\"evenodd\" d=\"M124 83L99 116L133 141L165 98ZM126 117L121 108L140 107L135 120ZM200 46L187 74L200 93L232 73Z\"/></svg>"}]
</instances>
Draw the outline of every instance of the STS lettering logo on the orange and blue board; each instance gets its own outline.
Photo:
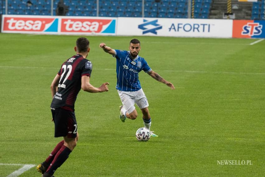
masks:
<instances>
[{"instance_id":1,"label":"STS lettering logo on the orange and blue board","mask_svg":"<svg viewBox=\"0 0 265 177\"><path fill-rule=\"evenodd\" d=\"M248 22L243 26L241 35L258 36L262 33L262 25L259 23Z\"/></svg>"}]
</instances>

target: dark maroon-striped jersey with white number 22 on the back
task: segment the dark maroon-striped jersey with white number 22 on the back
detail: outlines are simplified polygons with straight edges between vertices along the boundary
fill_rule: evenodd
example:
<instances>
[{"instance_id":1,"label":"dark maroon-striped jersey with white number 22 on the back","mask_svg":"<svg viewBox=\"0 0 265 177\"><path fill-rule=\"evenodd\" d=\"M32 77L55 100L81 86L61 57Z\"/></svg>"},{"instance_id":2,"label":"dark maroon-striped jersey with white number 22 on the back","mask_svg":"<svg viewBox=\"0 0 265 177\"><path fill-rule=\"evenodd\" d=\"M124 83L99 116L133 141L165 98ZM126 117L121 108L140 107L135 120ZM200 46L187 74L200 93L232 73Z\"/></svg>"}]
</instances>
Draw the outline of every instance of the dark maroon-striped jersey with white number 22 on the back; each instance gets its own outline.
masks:
<instances>
[{"instance_id":1,"label":"dark maroon-striped jersey with white number 22 on the back","mask_svg":"<svg viewBox=\"0 0 265 177\"><path fill-rule=\"evenodd\" d=\"M75 100L81 89L81 77L91 75L91 61L76 54L66 60L58 72L60 81L58 91L55 93L51 107L62 107L71 111L75 110Z\"/></svg>"}]
</instances>

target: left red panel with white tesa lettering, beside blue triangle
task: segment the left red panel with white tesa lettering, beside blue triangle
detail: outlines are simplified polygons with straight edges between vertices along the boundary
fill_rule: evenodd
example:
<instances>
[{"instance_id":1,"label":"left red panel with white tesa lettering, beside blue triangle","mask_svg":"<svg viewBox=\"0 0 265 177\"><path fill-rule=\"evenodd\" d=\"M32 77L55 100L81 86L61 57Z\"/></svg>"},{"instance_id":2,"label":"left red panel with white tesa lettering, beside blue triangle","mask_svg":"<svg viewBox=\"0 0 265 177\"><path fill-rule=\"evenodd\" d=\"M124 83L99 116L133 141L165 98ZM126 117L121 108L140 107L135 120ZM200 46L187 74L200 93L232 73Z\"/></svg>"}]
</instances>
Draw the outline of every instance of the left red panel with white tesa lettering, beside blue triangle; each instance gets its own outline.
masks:
<instances>
[{"instance_id":1,"label":"left red panel with white tesa lettering, beside blue triangle","mask_svg":"<svg viewBox=\"0 0 265 177\"><path fill-rule=\"evenodd\" d=\"M43 31L54 18L4 18L4 31Z\"/></svg>"}]
</instances>

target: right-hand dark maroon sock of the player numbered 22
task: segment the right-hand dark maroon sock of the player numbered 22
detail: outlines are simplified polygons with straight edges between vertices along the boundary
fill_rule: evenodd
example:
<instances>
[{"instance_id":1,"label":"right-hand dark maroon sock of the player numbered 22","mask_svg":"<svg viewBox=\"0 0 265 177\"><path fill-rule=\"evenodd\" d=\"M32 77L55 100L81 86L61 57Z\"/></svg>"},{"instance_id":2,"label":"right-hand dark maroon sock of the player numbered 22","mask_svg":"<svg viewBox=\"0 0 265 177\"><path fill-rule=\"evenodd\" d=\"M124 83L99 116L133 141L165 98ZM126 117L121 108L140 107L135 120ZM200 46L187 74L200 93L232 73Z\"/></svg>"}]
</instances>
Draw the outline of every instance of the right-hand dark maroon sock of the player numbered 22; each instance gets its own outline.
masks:
<instances>
[{"instance_id":1,"label":"right-hand dark maroon sock of the player numbered 22","mask_svg":"<svg viewBox=\"0 0 265 177\"><path fill-rule=\"evenodd\" d=\"M63 145L61 149L56 153L53 161L51 162L51 165L46 170L46 173L51 175L54 174L55 170L65 162L71 152L72 151L68 147Z\"/></svg>"}]
</instances>

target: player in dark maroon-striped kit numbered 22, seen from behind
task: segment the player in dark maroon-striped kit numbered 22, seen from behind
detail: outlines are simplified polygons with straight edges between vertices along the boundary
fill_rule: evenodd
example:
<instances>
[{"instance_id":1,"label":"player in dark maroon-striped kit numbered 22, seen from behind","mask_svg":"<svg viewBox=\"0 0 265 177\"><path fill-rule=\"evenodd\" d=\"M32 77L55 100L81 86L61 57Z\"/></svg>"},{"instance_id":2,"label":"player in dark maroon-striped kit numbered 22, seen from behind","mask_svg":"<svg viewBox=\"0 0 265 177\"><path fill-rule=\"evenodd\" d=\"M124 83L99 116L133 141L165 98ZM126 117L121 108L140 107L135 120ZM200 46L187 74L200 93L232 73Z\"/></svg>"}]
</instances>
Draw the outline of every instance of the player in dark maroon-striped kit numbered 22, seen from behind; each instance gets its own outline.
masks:
<instances>
[{"instance_id":1,"label":"player in dark maroon-striped kit numbered 22, seen from behind","mask_svg":"<svg viewBox=\"0 0 265 177\"><path fill-rule=\"evenodd\" d=\"M76 54L67 59L51 83L52 118L55 124L55 137L63 136L47 157L37 166L43 177L52 177L55 170L68 158L78 140L77 123L75 119L75 100L80 89L96 93L108 91L108 82L99 88L89 83L92 63L86 57L89 53L89 41L80 37L76 41Z\"/></svg>"}]
</instances>

